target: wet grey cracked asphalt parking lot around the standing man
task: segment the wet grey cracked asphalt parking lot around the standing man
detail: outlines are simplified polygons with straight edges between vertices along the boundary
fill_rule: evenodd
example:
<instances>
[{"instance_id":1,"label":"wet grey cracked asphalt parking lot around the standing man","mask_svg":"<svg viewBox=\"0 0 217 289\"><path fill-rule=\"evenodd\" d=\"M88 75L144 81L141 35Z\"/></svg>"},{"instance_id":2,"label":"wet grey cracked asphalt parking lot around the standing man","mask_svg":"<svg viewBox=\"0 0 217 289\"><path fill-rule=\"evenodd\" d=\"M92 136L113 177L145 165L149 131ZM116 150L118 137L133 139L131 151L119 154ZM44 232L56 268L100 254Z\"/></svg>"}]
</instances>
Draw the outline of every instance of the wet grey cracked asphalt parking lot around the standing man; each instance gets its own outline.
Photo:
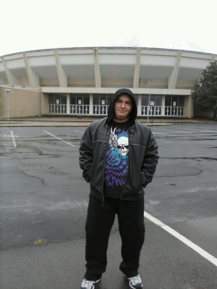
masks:
<instances>
[{"instance_id":1,"label":"wet grey cracked asphalt parking lot around the standing man","mask_svg":"<svg viewBox=\"0 0 217 289\"><path fill-rule=\"evenodd\" d=\"M0 127L1 289L80 288L89 184L79 168L86 127ZM217 125L152 126L159 146L145 188L146 289L217 288ZM35 241L46 240L37 246ZM117 220L96 289L125 289Z\"/></svg>"}]
</instances>

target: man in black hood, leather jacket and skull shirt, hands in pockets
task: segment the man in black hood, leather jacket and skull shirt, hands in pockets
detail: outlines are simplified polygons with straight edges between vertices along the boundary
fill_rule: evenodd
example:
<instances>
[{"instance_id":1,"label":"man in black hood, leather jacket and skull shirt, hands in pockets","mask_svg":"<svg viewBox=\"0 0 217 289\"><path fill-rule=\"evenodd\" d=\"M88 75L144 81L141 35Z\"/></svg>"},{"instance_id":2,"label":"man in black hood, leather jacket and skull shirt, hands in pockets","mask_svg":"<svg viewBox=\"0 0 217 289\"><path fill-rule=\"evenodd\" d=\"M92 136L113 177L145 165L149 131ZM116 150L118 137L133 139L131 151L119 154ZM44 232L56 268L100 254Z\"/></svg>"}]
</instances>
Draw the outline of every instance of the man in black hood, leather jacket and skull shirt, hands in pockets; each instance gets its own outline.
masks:
<instances>
[{"instance_id":1,"label":"man in black hood, leather jacket and skull shirt, hands in pockets","mask_svg":"<svg viewBox=\"0 0 217 289\"><path fill-rule=\"evenodd\" d=\"M90 182L86 219L86 273L81 289L94 289L107 265L108 238L115 214L121 235L119 269L131 288L141 288L138 275L144 242L144 191L158 162L149 127L136 121L137 105L129 89L115 92L108 117L94 121L80 144L80 167Z\"/></svg>"}]
</instances>

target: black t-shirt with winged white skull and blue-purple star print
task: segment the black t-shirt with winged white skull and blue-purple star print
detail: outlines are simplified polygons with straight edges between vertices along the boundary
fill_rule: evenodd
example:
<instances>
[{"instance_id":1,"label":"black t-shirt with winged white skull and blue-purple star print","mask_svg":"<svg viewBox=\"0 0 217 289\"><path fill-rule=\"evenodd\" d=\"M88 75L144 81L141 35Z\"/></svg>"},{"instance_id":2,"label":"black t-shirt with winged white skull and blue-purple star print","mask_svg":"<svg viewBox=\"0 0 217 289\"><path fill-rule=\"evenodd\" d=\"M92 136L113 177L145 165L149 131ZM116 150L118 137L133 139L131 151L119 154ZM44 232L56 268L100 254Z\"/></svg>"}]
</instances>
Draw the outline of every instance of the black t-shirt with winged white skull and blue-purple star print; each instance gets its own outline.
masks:
<instances>
[{"instance_id":1,"label":"black t-shirt with winged white skull and blue-purple star print","mask_svg":"<svg viewBox=\"0 0 217 289\"><path fill-rule=\"evenodd\" d=\"M104 169L104 196L119 198L127 178L129 122L113 122Z\"/></svg>"}]
</instances>

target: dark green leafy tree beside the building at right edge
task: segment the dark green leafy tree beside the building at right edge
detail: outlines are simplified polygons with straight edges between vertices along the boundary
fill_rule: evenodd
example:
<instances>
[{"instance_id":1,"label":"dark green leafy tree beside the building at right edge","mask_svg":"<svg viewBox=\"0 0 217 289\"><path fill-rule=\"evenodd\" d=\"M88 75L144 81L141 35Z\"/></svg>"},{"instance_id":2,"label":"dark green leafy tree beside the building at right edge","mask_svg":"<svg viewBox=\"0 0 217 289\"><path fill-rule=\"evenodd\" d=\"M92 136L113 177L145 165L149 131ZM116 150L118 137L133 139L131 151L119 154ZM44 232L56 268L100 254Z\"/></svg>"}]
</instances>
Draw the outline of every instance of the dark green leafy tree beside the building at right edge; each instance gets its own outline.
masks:
<instances>
[{"instance_id":1,"label":"dark green leafy tree beside the building at right edge","mask_svg":"<svg viewBox=\"0 0 217 289\"><path fill-rule=\"evenodd\" d=\"M212 62L203 70L203 77L195 83L193 92L194 109L212 111L217 117L217 62Z\"/></svg>"}]
</instances>

